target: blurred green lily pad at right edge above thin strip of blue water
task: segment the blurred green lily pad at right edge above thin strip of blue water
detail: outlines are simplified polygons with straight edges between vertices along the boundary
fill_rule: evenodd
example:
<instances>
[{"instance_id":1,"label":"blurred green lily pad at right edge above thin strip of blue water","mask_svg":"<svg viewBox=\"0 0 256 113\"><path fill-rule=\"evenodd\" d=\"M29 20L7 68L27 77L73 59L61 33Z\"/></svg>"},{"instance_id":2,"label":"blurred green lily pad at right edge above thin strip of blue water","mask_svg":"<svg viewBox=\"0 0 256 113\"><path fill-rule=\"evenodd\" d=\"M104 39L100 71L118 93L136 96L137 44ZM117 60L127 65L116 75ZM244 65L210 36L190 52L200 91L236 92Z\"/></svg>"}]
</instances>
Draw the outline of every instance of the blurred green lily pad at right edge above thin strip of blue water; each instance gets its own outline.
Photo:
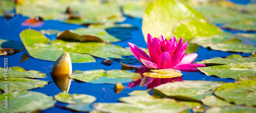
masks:
<instances>
[{"instance_id":1,"label":"blurred green lily pad at right edge above thin strip of blue water","mask_svg":"<svg viewBox=\"0 0 256 113\"><path fill-rule=\"evenodd\" d=\"M229 22L223 26L227 29L242 30L242 31L256 31L256 24L252 20Z\"/></svg>"}]
</instances>

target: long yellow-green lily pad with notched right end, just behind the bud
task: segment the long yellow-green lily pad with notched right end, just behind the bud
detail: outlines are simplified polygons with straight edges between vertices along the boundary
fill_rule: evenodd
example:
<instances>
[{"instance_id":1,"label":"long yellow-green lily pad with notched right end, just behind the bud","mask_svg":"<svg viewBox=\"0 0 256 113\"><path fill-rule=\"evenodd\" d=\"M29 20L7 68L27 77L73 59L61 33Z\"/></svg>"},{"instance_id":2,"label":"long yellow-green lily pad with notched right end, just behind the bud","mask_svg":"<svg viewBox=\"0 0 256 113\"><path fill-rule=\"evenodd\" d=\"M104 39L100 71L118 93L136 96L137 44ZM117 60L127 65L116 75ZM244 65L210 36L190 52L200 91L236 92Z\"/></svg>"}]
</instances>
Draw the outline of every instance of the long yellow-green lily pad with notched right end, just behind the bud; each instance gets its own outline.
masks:
<instances>
[{"instance_id":1,"label":"long yellow-green lily pad with notched right end, just behind the bud","mask_svg":"<svg viewBox=\"0 0 256 113\"><path fill-rule=\"evenodd\" d=\"M63 40L54 40L51 42L52 46L62 48L65 51L89 54L99 58L122 58L119 55L111 53L111 50L121 49L120 46L115 46L110 43L102 42L67 42Z\"/></svg>"}]
</instances>

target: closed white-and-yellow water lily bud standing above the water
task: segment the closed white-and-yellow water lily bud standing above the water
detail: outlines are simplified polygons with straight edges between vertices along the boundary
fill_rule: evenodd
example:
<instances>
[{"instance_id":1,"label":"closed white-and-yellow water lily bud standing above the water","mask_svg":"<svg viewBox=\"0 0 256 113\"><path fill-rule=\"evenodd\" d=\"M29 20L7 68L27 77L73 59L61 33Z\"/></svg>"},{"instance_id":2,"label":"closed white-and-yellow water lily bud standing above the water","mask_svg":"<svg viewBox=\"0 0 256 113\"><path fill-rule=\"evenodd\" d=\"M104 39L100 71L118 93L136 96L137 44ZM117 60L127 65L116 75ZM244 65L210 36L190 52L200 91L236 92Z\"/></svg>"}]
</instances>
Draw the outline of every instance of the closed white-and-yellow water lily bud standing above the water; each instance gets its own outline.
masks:
<instances>
[{"instance_id":1,"label":"closed white-and-yellow water lily bud standing above the water","mask_svg":"<svg viewBox=\"0 0 256 113\"><path fill-rule=\"evenodd\" d=\"M51 75L71 75L72 63L69 53L63 53L59 59L53 64Z\"/></svg>"}]
</instances>

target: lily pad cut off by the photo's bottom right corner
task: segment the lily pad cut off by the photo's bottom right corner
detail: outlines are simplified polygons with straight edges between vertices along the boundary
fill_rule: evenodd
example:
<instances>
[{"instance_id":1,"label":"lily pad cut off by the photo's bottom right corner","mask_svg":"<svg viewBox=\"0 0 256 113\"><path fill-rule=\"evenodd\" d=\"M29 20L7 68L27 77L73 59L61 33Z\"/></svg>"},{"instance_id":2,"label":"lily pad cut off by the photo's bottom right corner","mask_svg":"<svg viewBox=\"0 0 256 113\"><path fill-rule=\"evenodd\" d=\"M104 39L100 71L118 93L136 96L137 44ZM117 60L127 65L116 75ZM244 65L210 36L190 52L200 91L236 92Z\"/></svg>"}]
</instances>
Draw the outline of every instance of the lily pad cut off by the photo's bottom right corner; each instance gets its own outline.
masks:
<instances>
[{"instance_id":1,"label":"lily pad cut off by the photo's bottom right corner","mask_svg":"<svg viewBox=\"0 0 256 113\"><path fill-rule=\"evenodd\" d=\"M247 107L247 106L230 106L230 107L211 107L208 108L205 112L220 112L220 113L226 113L226 112L255 112L255 107Z\"/></svg>"}]
</instances>

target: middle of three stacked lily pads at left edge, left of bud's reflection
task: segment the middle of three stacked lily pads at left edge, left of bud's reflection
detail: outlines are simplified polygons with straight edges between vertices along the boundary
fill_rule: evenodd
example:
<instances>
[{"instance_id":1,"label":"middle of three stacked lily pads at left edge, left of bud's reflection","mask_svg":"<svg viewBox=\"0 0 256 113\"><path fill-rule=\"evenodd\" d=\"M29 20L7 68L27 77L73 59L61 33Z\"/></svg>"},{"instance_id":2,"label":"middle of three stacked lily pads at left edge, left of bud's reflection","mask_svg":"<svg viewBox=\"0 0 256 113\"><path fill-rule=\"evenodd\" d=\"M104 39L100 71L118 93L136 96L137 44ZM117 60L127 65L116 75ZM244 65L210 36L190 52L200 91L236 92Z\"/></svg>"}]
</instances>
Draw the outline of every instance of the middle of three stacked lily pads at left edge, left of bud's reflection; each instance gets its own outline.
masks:
<instances>
[{"instance_id":1,"label":"middle of three stacked lily pads at left edge, left of bud's reflection","mask_svg":"<svg viewBox=\"0 0 256 113\"><path fill-rule=\"evenodd\" d=\"M38 87L44 87L49 81L19 78L19 77L8 77L9 82L5 82L5 78L0 78L0 89L5 91L5 84L8 83L8 92L13 91L24 91L27 89L33 89Z\"/></svg>"}]
</instances>

